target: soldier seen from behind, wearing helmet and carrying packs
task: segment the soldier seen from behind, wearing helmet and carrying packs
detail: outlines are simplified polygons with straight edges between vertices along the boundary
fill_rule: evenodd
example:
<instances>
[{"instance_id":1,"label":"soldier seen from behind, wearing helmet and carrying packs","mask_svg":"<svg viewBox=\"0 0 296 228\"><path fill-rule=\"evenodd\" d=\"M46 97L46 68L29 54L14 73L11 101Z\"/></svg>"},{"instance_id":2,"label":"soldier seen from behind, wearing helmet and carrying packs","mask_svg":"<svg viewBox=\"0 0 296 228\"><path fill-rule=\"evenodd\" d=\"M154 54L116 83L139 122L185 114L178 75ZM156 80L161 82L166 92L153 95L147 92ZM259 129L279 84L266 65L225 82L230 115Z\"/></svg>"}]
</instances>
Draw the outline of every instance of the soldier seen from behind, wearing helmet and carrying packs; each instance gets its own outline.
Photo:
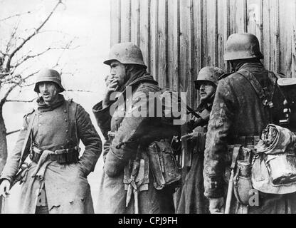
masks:
<instances>
[{"instance_id":1,"label":"soldier seen from behind, wearing helmet and carrying packs","mask_svg":"<svg viewBox=\"0 0 296 228\"><path fill-rule=\"evenodd\" d=\"M225 207L231 166L237 157L228 145L255 151L268 123L279 125L282 119L284 98L277 77L264 68L261 58L259 41L253 34L235 33L228 38L224 60L231 63L233 73L224 75L218 83L206 135L203 177L211 213L221 213ZM295 194L259 192L259 199L259 205L244 207L233 195L230 212L296 212Z\"/></svg>"}]
</instances>

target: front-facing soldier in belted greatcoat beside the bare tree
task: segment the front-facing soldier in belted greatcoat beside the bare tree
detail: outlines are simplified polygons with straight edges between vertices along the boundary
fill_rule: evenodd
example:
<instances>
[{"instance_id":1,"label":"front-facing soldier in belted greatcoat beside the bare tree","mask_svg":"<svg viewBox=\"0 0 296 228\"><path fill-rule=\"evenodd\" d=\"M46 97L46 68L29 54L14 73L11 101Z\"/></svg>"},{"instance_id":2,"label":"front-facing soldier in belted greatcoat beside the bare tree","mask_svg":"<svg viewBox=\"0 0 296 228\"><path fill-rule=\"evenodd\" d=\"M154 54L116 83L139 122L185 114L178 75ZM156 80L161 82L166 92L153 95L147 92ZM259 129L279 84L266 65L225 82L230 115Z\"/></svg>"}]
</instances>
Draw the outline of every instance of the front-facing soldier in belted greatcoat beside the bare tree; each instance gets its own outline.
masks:
<instances>
[{"instance_id":1,"label":"front-facing soldier in belted greatcoat beside the bare tree","mask_svg":"<svg viewBox=\"0 0 296 228\"><path fill-rule=\"evenodd\" d=\"M90 115L60 94L64 88L55 70L40 71L34 91L40 94L37 107L23 118L0 177L1 195L9 194L21 167L19 213L93 213L87 177L100 157L102 142ZM81 156L80 140L85 145ZM26 155L28 165L23 163Z\"/></svg>"}]
</instances>

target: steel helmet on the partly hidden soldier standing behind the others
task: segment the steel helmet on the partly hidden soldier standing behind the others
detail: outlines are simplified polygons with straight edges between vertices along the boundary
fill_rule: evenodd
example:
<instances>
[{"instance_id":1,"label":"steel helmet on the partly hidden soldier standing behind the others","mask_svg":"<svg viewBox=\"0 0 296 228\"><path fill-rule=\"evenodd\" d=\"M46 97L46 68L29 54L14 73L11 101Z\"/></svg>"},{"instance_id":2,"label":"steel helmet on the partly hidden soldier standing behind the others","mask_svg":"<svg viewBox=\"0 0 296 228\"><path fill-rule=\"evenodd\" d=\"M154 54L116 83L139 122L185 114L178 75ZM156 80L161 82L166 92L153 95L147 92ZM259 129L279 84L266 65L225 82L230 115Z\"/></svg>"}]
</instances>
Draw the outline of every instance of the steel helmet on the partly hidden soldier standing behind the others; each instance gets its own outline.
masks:
<instances>
[{"instance_id":1,"label":"steel helmet on the partly hidden soldier standing behind the others","mask_svg":"<svg viewBox=\"0 0 296 228\"><path fill-rule=\"evenodd\" d=\"M213 66L206 66L199 71L199 75L197 76L197 80L194 81L195 88L199 90L201 87L201 83L205 81L210 81L215 86L218 86L218 79L222 76L224 72L221 68L213 67Z\"/></svg>"}]
</instances>

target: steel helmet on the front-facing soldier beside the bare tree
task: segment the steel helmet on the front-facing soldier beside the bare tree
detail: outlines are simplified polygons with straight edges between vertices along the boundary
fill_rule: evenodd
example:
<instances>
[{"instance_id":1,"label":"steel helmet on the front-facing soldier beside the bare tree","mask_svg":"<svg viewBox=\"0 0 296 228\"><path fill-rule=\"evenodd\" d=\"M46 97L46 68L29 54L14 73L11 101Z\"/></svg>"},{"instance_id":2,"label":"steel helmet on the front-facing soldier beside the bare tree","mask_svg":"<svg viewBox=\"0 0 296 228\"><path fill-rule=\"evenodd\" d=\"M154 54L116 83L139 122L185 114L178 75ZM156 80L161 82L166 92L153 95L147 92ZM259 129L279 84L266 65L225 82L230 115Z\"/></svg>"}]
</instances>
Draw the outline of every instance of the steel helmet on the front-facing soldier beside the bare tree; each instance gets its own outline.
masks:
<instances>
[{"instance_id":1,"label":"steel helmet on the front-facing soldier beside the bare tree","mask_svg":"<svg viewBox=\"0 0 296 228\"><path fill-rule=\"evenodd\" d=\"M58 71L55 71L53 69L44 68L41 71L39 71L36 79L35 88L34 88L34 91L36 93L40 93L38 83L45 82L45 81L56 83L59 88L58 93L65 91L65 89L62 86L62 81L60 79L60 73L58 73Z\"/></svg>"}]
</instances>

